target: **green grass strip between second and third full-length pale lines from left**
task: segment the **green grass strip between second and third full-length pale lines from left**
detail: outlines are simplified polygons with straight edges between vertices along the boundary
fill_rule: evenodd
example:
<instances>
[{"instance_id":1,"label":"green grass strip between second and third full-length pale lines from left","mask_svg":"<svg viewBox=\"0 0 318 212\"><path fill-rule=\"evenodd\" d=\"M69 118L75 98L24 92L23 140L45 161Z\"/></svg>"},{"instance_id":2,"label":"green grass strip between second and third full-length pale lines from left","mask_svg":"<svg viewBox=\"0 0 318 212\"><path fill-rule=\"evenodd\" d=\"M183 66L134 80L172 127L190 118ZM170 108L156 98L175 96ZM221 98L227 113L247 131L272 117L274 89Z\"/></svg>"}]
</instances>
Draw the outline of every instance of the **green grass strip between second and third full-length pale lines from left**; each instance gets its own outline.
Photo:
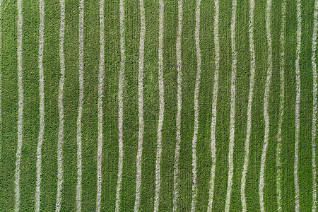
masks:
<instances>
[{"instance_id":1,"label":"green grass strip between second and third full-length pale lines from left","mask_svg":"<svg viewBox=\"0 0 318 212\"><path fill-rule=\"evenodd\" d=\"M42 144L40 211L54 211L57 200L57 133L59 130L59 1L45 1L45 131Z\"/></svg>"}]
</instances>

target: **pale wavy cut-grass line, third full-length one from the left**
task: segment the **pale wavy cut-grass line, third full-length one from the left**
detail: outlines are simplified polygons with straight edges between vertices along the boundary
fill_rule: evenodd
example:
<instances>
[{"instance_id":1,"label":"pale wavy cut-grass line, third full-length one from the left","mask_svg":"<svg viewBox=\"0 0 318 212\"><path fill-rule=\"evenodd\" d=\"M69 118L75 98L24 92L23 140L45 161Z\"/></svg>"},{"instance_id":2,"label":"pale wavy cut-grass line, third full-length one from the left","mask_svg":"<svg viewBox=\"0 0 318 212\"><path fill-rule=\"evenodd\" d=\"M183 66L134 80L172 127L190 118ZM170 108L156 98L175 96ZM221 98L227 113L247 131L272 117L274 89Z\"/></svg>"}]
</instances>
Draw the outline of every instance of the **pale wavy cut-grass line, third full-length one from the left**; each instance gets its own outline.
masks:
<instances>
[{"instance_id":1,"label":"pale wavy cut-grass line, third full-length one from the left","mask_svg":"<svg viewBox=\"0 0 318 212\"><path fill-rule=\"evenodd\" d=\"M57 203L55 211L61 209L61 189L63 183L63 136L64 136L64 108L63 108L63 87L64 87L64 22L65 22L65 3L64 0L59 1L60 4L60 28L59 28L59 65L61 69L61 78L59 79L59 137L57 139Z\"/></svg>"}]
</instances>

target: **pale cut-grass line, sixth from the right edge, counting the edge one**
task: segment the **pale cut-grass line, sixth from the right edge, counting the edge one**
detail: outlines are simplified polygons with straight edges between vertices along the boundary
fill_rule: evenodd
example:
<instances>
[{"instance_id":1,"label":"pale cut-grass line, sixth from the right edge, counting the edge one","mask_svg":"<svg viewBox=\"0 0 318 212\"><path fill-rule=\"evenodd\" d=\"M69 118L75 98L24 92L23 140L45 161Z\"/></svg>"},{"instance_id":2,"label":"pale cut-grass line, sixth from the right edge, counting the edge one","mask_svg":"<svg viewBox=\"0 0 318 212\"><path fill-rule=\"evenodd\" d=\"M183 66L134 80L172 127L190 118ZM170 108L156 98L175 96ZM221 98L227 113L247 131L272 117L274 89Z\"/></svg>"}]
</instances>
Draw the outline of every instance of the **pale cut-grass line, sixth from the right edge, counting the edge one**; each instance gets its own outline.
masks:
<instances>
[{"instance_id":1,"label":"pale cut-grass line, sixth from the right edge, counting the edge one","mask_svg":"<svg viewBox=\"0 0 318 212\"><path fill-rule=\"evenodd\" d=\"M228 190L226 192L225 211L230 211L230 199L232 192L233 177L233 149L235 137L235 81L237 52L235 47L235 22L236 22L237 1L232 1L232 22L231 22L231 45L232 45L232 76L231 76L231 108L230 108L230 144L228 150Z\"/></svg>"}]
</instances>

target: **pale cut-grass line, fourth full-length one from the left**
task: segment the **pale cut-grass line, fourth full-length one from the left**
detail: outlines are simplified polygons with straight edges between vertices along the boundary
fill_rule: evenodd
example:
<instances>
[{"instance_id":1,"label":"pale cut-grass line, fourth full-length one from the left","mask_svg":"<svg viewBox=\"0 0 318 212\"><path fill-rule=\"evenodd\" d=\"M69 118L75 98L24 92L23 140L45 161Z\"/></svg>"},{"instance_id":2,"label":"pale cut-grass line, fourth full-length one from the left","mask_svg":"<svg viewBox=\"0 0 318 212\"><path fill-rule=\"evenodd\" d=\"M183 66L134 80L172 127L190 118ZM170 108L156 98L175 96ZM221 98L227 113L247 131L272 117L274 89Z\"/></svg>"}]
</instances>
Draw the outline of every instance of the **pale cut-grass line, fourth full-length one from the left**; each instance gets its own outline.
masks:
<instances>
[{"instance_id":1,"label":"pale cut-grass line, fourth full-length one from the left","mask_svg":"<svg viewBox=\"0 0 318 212\"><path fill-rule=\"evenodd\" d=\"M79 82L79 99L78 99L78 118L77 118L77 185L76 185L76 210L81 211L81 183L82 183L82 134L81 119L83 107L83 18L84 18L84 0L80 0L79 5L79 22L78 22L78 82Z\"/></svg>"}]
</instances>

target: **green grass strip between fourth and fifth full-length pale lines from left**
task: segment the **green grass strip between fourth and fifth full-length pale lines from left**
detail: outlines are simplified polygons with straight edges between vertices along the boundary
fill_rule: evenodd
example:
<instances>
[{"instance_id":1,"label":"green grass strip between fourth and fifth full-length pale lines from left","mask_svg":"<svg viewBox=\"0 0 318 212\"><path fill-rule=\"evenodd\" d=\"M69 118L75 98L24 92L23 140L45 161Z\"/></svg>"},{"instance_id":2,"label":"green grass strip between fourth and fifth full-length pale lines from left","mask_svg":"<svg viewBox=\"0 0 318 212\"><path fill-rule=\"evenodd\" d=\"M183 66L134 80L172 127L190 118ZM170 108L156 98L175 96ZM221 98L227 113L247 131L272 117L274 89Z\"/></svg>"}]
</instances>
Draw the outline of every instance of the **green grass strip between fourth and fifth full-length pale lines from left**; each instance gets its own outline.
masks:
<instances>
[{"instance_id":1,"label":"green grass strip between fourth and fifth full-length pale lines from left","mask_svg":"<svg viewBox=\"0 0 318 212\"><path fill-rule=\"evenodd\" d=\"M100 4L84 1L82 210L95 211L98 149L98 73L100 51Z\"/></svg>"}]
</instances>

